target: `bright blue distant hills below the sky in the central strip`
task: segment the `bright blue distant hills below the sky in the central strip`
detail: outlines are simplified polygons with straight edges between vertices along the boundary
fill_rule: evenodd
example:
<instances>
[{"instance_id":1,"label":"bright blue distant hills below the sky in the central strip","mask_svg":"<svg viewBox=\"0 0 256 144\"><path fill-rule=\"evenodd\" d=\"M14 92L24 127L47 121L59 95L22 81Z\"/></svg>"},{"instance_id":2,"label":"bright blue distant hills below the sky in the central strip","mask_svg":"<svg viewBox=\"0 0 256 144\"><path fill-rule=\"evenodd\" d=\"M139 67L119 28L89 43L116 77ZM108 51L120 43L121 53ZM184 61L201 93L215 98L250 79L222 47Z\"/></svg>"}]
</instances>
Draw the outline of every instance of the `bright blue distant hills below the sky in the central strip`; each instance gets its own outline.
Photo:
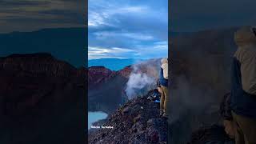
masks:
<instances>
[{"instance_id":1,"label":"bright blue distant hills below the sky in the central strip","mask_svg":"<svg viewBox=\"0 0 256 144\"><path fill-rule=\"evenodd\" d=\"M91 59L88 61L88 66L105 66L110 70L122 70L126 66L130 66L136 62L142 61L141 59L119 59L119 58L100 58Z\"/></svg>"}]
</instances>

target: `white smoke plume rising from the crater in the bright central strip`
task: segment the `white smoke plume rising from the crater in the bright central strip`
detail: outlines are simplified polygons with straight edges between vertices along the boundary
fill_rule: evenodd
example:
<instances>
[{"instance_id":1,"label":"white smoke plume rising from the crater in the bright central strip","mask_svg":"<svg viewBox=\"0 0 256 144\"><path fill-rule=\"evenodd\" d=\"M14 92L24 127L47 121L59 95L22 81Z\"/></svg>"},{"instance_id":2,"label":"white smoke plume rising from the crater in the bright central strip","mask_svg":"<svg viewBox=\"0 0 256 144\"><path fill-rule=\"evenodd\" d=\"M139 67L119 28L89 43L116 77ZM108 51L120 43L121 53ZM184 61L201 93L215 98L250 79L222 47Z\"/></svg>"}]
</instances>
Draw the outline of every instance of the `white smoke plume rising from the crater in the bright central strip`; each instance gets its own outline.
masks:
<instances>
[{"instance_id":1,"label":"white smoke plume rising from the crater in the bright central strip","mask_svg":"<svg viewBox=\"0 0 256 144\"><path fill-rule=\"evenodd\" d=\"M129 99L143 96L156 88L160 63L158 59L141 62L133 66L133 71L126 83L126 95Z\"/></svg>"}]
</instances>

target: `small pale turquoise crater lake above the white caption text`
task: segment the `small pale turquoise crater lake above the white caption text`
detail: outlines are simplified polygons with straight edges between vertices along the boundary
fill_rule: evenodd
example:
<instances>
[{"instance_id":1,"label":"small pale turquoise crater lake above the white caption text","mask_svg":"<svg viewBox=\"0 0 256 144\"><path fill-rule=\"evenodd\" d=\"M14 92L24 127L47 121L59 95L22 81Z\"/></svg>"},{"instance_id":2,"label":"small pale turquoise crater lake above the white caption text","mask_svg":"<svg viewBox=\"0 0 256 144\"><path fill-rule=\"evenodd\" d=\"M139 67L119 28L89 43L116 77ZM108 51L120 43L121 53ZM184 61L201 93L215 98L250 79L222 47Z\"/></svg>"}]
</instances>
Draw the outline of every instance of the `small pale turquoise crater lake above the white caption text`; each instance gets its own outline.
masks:
<instances>
[{"instance_id":1,"label":"small pale turquoise crater lake above the white caption text","mask_svg":"<svg viewBox=\"0 0 256 144\"><path fill-rule=\"evenodd\" d=\"M107 114L102 111L95 111L95 112L89 112L88 113L88 130L90 129L90 126L94 122L98 122L99 120L105 119L107 117Z\"/></svg>"}]
</instances>

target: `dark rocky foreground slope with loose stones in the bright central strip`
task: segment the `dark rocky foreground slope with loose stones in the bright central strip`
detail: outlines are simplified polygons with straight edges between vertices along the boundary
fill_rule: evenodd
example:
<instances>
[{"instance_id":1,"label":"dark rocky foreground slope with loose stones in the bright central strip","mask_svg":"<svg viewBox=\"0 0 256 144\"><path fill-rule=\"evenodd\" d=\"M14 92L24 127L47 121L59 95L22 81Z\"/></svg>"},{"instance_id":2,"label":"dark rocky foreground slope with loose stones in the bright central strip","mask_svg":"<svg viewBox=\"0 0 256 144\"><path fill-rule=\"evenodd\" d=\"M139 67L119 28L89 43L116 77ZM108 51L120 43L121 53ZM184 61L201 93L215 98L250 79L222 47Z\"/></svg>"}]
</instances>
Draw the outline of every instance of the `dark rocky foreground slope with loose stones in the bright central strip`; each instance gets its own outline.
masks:
<instances>
[{"instance_id":1,"label":"dark rocky foreground slope with loose stones in the bright central strip","mask_svg":"<svg viewBox=\"0 0 256 144\"><path fill-rule=\"evenodd\" d=\"M151 93L149 93L151 94ZM126 102L102 126L89 134L89 143L166 143L167 121L159 117L159 103L139 97Z\"/></svg>"}]
</instances>

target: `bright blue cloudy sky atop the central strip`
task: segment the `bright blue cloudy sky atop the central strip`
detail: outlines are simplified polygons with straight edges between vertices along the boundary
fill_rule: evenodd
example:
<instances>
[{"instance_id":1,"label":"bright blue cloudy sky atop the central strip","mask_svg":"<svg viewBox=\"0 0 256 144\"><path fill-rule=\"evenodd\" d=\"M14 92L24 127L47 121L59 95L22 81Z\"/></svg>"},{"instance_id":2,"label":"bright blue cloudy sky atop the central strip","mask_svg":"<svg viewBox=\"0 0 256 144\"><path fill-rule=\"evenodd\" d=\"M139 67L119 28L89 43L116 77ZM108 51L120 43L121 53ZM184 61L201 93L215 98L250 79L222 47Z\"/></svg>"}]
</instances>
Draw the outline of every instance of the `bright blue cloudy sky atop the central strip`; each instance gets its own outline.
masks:
<instances>
[{"instance_id":1,"label":"bright blue cloudy sky atop the central strip","mask_svg":"<svg viewBox=\"0 0 256 144\"><path fill-rule=\"evenodd\" d=\"M168 54L168 0L88 0L88 58Z\"/></svg>"}]
</instances>

